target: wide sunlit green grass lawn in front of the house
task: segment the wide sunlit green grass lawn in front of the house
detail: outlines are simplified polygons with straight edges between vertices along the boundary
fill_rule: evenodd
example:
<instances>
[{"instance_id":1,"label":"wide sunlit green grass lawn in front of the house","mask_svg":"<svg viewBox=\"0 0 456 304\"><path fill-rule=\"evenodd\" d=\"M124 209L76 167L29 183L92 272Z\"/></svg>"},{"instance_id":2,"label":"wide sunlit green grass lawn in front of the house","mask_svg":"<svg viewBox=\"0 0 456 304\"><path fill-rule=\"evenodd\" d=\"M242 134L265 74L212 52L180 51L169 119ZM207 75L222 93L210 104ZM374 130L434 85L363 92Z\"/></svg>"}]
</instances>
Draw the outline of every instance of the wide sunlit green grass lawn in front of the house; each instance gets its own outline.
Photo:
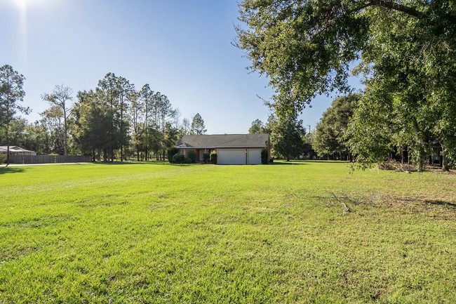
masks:
<instances>
[{"instance_id":1,"label":"wide sunlit green grass lawn in front of the house","mask_svg":"<svg viewBox=\"0 0 456 304\"><path fill-rule=\"evenodd\" d=\"M456 303L456 174L0 168L0 303Z\"/></svg>"}]
</instances>

